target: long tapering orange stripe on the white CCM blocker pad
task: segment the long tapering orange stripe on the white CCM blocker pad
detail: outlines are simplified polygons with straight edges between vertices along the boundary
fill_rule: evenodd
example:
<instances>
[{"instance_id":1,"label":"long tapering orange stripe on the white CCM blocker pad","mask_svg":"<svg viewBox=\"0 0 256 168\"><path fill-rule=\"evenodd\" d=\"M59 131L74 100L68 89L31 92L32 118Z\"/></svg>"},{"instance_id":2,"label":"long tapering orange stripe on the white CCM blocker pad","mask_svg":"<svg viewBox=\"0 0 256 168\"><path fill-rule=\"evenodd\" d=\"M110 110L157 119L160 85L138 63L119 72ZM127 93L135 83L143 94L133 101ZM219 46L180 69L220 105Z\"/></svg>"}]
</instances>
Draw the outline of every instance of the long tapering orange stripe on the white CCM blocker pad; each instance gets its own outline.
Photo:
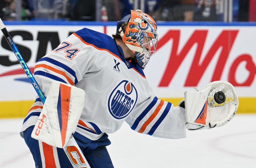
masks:
<instances>
[{"instance_id":1,"label":"long tapering orange stripe on the white CCM blocker pad","mask_svg":"<svg viewBox=\"0 0 256 168\"><path fill-rule=\"evenodd\" d=\"M62 146L64 146L66 133L67 133L70 92L71 92L70 87L68 87L66 85L63 85L63 84L60 84L61 120L62 120L62 129L61 129Z\"/></svg>"}]
</instances>

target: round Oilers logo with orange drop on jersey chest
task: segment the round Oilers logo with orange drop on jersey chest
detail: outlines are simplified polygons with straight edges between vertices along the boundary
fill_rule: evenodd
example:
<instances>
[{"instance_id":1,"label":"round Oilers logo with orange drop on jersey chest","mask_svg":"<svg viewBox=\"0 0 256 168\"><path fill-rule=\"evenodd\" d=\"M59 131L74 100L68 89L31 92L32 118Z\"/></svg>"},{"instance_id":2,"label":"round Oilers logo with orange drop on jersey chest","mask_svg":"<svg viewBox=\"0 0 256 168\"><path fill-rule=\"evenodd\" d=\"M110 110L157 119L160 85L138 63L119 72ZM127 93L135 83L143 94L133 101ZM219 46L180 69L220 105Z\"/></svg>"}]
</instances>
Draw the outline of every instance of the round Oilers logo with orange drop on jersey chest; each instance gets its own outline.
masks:
<instances>
[{"instance_id":1,"label":"round Oilers logo with orange drop on jersey chest","mask_svg":"<svg viewBox=\"0 0 256 168\"><path fill-rule=\"evenodd\" d=\"M138 99L138 93L132 82L121 81L110 93L108 97L108 111L115 119L125 118Z\"/></svg>"}]
</instances>

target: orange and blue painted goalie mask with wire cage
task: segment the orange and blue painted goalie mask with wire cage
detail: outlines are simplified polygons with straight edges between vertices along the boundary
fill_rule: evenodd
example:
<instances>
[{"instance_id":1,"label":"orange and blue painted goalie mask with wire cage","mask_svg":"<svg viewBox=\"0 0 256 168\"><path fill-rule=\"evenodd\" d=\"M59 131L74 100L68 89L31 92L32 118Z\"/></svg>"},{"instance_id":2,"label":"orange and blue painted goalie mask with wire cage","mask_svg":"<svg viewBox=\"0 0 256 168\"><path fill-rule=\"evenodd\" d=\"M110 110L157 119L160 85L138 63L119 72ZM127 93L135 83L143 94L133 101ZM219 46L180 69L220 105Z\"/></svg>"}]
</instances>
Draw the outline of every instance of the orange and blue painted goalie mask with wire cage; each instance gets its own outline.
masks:
<instances>
[{"instance_id":1,"label":"orange and blue painted goalie mask with wire cage","mask_svg":"<svg viewBox=\"0 0 256 168\"><path fill-rule=\"evenodd\" d=\"M122 37L125 45L134 53L135 61L144 69L156 51L157 26L154 19L141 10L131 10L129 15L117 22L116 35ZM143 44L143 41L146 42Z\"/></svg>"}]
</instances>

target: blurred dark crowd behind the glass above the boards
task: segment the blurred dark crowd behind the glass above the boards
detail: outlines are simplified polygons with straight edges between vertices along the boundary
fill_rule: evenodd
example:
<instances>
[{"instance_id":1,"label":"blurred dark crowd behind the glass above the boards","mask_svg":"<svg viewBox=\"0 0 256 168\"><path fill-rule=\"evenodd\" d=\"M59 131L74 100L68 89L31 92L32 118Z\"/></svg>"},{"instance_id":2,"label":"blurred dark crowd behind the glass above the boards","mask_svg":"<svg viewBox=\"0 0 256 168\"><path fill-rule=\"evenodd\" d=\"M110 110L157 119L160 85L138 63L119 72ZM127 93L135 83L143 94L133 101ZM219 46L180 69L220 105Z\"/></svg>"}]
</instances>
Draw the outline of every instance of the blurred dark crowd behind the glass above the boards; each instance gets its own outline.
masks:
<instances>
[{"instance_id":1,"label":"blurred dark crowd behind the glass above the boards","mask_svg":"<svg viewBox=\"0 0 256 168\"><path fill-rule=\"evenodd\" d=\"M156 21L223 21L226 0L0 0L3 20L16 20L17 1L21 20L117 21L138 2ZM249 21L249 2L233 0L233 21Z\"/></svg>"}]
</instances>

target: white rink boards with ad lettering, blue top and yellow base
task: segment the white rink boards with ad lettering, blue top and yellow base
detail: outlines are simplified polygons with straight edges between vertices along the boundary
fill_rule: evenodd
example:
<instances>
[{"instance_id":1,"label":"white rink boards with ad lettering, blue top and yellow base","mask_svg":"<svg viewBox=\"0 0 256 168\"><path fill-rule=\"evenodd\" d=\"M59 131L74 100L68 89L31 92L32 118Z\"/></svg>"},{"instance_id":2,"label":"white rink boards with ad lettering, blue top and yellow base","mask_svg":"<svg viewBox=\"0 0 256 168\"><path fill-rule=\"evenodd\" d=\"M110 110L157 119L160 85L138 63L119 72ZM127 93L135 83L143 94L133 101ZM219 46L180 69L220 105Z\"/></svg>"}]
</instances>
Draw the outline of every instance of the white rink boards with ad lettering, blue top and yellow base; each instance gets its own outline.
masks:
<instances>
[{"instance_id":1,"label":"white rink boards with ad lettering, blue top and yellow base","mask_svg":"<svg viewBox=\"0 0 256 168\"><path fill-rule=\"evenodd\" d=\"M32 72L38 59L81 28L108 35L116 32L114 22L4 23ZM145 68L157 97L177 105L186 90L223 80L236 88L238 113L255 112L255 28L252 23L158 23L157 51ZM23 117L36 92L2 33L0 38L0 118Z\"/></svg>"}]
</instances>

